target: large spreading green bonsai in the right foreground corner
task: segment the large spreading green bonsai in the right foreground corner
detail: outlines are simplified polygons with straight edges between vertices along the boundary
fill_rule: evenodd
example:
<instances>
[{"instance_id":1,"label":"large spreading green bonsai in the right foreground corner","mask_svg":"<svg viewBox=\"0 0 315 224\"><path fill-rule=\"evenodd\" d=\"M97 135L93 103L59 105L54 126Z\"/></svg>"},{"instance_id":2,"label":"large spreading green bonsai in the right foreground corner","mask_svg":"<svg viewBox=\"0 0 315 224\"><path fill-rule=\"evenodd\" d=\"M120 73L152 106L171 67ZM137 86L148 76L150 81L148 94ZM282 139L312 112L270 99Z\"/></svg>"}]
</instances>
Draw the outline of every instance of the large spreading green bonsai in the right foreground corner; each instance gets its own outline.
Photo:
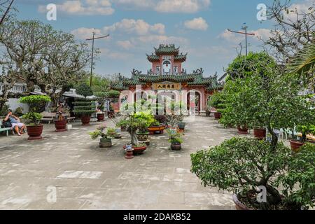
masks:
<instances>
[{"instance_id":1,"label":"large spreading green bonsai in the right foreground corner","mask_svg":"<svg viewBox=\"0 0 315 224\"><path fill-rule=\"evenodd\" d=\"M204 186L232 191L248 208L300 209L314 206L313 144L307 144L293 155L283 144L274 148L266 141L232 138L220 146L190 156L192 172ZM258 187L267 191L265 202L257 200Z\"/></svg>"}]
</instances>

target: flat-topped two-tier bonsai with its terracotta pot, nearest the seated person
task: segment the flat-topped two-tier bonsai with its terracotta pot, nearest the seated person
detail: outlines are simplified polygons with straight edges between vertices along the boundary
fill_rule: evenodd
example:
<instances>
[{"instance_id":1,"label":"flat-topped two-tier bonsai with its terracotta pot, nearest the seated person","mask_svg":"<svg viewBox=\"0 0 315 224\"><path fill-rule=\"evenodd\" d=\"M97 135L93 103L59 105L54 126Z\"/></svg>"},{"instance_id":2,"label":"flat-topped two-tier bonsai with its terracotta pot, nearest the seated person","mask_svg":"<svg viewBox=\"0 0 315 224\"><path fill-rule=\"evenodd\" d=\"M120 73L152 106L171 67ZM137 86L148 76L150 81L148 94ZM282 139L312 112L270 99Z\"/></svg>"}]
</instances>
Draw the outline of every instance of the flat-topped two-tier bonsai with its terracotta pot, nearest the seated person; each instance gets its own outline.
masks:
<instances>
[{"instance_id":1,"label":"flat-topped two-tier bonsai with its terracotta pot, nearest the seated person","mask_svg":"<svg viewBox=\"0 0 315 224\"><path fill-rule=\"evenodd\" d=\"M45 95L31 95L27 97L21 97L20 103L29 105L29 112L26 113L22 118L29 120L27 123L27 134L29 135L29 140L41 139L41 134L43 133L43 124L40 123L41 109L47 102L50 102L50 97Z\"/></svg>"}]
</instances>

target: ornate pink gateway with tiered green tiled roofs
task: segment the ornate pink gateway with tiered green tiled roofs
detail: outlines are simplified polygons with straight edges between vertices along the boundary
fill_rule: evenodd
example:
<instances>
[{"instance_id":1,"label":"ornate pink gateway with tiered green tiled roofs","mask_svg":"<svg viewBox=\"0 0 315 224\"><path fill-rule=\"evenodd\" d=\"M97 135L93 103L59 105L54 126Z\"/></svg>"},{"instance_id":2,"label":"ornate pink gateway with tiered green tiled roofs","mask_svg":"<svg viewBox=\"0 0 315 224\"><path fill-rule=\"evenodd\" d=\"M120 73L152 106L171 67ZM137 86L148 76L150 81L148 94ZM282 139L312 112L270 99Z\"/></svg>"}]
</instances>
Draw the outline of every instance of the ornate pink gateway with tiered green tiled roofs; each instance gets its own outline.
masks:
<instances>
[{"instance_id":1,"label":"ornate pink gateway with tiered green tiled roofs","mask_svg":"<svg viewBox=\"0 0 315 224\"><path fill-rule=\"evenodd\" d=\"M129 103L133 103L137 98L137 92L140 97L152 94L157 97L171 95L172 101L187 102L188 109L195 106L196 112L199 113L206 109L208 97L223 87L218 83L216 75L204 78L203 69L186 73L182 64L186 62L187 54L180 53L174 44L160 44L155 48L155 54L146 56L152 63L152 68L147 74L133 69L132 78L121 76L113 83L112 88L120 90L123 97L130 96ZM195 102L191 102L194 99Z\"/></svg>"}]
</instances>

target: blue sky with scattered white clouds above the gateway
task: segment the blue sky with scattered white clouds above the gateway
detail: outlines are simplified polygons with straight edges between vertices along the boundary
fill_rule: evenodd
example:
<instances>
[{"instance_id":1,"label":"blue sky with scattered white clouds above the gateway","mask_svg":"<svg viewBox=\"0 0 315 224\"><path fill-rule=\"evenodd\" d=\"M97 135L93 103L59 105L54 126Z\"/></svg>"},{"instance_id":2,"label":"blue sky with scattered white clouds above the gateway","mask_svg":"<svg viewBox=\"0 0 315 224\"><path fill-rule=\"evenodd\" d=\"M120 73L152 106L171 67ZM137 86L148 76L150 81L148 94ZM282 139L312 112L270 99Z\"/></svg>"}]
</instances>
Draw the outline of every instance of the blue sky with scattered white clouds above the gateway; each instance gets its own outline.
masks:
<instances>
[{"instance_id":1,"label":"blue sky with scattered white clouds above the gateway","mask_svg":"<svg viewBox=\"0 0 315 224\"><path fill-rule=\"evenodd\" d=\"M244 44L244 36L226 29L239 30L246 22L248 30L267 38L272 22L257 20L258 3L272 0L15 0L18 18L41 20L55 29L73 33L79 41L92 36L111 34L95 42L101 50L95 72L101 75L132 69L146 73L151 64L146 53L159 43L174 43L188 52L183 67L188 72L202 67L204 76L223 74L237 56L235 49ZM307 8L311 0L292 1L297 8ZM46 19L48 3L57 5L57 21ZM249 37L249 50L262 50L258 38ZM88 69L88 68L87 68Z\"/></svg>"}]
</instances>

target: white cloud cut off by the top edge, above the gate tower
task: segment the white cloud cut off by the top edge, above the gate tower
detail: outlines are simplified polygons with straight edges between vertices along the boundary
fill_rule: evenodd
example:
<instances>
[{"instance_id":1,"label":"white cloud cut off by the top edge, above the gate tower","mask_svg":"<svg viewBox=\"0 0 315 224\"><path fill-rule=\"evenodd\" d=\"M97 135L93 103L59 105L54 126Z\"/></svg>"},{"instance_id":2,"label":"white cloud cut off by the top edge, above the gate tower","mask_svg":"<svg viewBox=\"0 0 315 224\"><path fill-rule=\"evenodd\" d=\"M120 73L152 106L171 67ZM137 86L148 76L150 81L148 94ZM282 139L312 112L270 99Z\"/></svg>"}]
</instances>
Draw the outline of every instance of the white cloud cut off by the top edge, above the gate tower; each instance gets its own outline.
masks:
<instances>
[{"instance_id":1,"label":"white cloud cut off by the top edge, above the gate tower","mask_svg":"<svg viewBox=\"0 0 315 224\"><path fill-rule=\"evenodd\" d=\"M160 13L196 13L209 5L210 0L162 0L158 1L155 10Z\"/></svg>"}]
</instances>

